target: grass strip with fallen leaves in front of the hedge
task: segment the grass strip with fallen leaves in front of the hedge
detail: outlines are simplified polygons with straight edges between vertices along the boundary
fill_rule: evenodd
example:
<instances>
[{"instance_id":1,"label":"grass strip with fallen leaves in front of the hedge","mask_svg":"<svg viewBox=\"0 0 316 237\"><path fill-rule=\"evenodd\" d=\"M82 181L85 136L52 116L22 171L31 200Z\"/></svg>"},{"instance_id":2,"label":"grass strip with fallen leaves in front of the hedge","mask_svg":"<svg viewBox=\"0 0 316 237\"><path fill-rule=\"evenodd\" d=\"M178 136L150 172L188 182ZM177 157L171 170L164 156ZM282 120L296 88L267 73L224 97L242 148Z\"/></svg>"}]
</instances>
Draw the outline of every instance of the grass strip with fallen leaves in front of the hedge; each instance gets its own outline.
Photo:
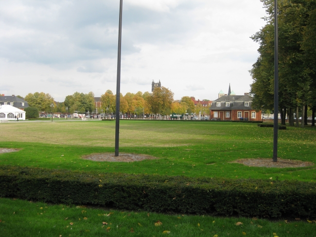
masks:
<instances>
[{"instance_id":1,"label":"grass strip with fallen leaves in front of the hedge","mask_svg":"<svg viewBox=\"0 0 316 237\"><path fill-rule=\"evenodd\" d=\"M0 233L5 237L166 236L163 231L177 237L243 237L243 232L251 237L273 237L273 233L279 237L314 237L316 233L313 220L311 223L287 220L286 223L242 217L164 215L3 198L0 199L0 219ZM155 226L157 221L162 225ZM236 225L237 222L242 224Z\"/></svg>"}]
</instances>

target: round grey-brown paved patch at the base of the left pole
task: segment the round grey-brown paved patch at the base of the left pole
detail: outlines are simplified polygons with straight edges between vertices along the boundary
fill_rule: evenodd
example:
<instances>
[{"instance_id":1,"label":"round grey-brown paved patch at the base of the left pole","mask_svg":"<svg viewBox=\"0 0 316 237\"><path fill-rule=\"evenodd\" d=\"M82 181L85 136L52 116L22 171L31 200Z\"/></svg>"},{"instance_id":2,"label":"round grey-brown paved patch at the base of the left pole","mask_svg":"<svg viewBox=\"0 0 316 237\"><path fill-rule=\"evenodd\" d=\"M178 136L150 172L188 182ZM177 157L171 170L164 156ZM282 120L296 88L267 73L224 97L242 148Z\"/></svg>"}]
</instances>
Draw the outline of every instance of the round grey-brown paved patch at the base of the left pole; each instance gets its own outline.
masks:
<instances>
[{"instance_id":1,"label":"round grey-brown paved patch at the base of the left pole","mask_svg":"<svg viewBox=\"0 0 316 237\"><path fill-rule=\"evenodd\" d=\"M99 162L134 162L142 160L153 160L156 157L142 154L119 153L119 156L114 156L114 153L93 153L82 157L85 160Z\"/></svg>"}]
</instances>

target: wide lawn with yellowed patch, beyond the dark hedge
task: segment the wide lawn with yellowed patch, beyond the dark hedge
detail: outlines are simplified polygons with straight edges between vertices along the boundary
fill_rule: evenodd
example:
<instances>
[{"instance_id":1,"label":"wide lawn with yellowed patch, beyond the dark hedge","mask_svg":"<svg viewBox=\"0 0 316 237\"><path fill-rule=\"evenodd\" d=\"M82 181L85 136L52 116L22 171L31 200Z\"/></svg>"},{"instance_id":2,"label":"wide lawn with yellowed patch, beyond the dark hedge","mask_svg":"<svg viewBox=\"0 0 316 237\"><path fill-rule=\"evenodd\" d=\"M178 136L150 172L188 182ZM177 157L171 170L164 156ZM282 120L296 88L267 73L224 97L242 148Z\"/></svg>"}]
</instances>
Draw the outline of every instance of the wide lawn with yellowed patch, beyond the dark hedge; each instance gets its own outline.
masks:
<instances>
[{"instance_id":1,"label":"wide lawn with yellowed patch, beyond the dark hedge","mask_svg":"<svg viewBox=\"0 0 316 237\"><path fill-rule=\"evenodd\" d=\"M273 128L256 124L121 121L120 152L149 154L156 160L93 162L82 156L114 152L115 123L109 121L1 124L0 165L39 166L97 172L146 173L315 181L315 165L301 168L248 167L239 158L271 158ZM279 157L315 162L316 130L279 131Z\"/></svg>"}]
</instances>

